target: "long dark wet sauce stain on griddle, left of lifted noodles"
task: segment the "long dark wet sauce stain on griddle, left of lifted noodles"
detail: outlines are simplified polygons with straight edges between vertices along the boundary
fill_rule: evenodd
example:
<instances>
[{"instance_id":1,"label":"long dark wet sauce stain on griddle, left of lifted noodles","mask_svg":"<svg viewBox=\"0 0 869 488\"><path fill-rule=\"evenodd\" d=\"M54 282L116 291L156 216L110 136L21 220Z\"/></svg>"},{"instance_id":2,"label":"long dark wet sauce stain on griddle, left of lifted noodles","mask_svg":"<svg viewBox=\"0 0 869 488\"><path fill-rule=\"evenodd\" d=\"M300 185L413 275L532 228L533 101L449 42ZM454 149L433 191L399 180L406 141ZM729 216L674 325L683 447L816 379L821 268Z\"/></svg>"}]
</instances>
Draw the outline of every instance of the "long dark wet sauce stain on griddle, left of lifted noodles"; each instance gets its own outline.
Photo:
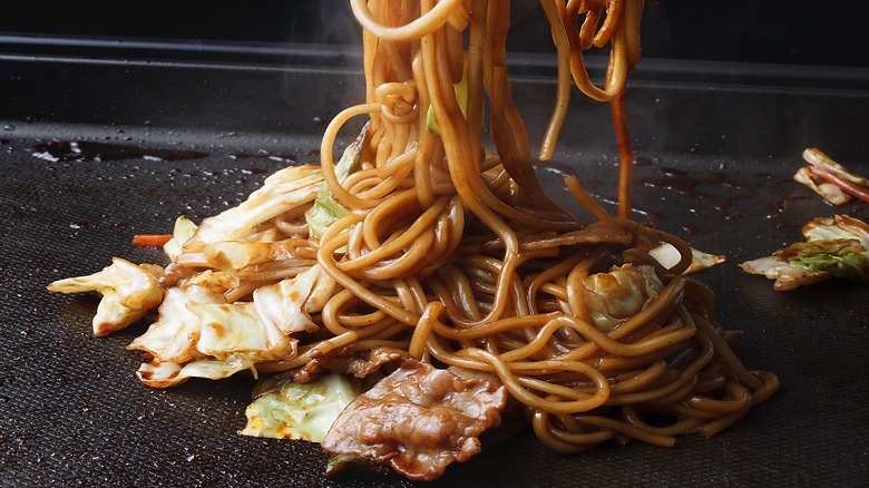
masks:
<instances>
[{"instance_id":1,"label":"long dark wet sauce stain on griddle, left of lifted noodles","mask_svg":"<svg viewBox=\"0 0 869 488\"><path fill-rule=\"evenodd\" d=\"M95 141L52 141L33 146L33 156L62 163L111 162L124 159L186 160L207 157L207 153L185 149L143 148L133 145Z\"/></svg>"}]
</instances>

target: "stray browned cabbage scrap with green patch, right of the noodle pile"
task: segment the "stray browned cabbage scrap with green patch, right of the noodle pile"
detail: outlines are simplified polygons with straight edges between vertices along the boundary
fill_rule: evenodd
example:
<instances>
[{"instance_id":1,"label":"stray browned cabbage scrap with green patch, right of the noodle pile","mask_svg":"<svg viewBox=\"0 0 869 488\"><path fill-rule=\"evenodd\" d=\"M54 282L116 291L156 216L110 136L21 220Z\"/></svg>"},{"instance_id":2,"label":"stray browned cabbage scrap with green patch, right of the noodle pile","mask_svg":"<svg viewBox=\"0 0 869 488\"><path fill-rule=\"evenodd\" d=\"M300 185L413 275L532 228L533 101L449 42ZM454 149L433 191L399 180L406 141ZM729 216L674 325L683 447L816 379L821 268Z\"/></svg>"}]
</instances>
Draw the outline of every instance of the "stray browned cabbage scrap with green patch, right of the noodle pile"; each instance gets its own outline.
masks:
<instances>
[{"instance_id":1,"label":"stray browned cabbage scrap with green patch, right of the noodle pile","mask_svg":"<svg viewBox=\"0 0 869 488\"><path fill-rule=\"evenodd\" d=\"M802 234L805 242L740 266L775 280L777 291L794 290L830 277L869 283L869 225L865 222L848 215L816 217L803 225Z\"/></svg>"}]
</instances>

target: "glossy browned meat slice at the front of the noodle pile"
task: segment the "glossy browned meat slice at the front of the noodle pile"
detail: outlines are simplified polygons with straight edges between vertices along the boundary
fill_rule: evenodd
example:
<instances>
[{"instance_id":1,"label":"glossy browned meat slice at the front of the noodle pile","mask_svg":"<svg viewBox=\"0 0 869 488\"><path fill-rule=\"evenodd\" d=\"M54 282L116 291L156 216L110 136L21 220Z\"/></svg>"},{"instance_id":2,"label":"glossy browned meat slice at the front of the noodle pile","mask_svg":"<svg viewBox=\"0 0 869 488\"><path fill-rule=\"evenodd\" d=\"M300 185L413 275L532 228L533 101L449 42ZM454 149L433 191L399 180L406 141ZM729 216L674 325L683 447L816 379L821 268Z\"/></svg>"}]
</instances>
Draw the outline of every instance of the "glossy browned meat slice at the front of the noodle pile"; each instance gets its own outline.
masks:
<instances>
[{"instance_id":1,"label":"glossy browned meat slice at the front of the noodle pile","mask_svg":"<svg viewBox=\"0 0 869 488\"><path fill-rule=\"evenodd\" d=\"M392 467L412 480L439 478L480 451L497 427L507 391L497 377L406 361L338 417L322 442L331 455Z\"/></svg>"}]
</instances>

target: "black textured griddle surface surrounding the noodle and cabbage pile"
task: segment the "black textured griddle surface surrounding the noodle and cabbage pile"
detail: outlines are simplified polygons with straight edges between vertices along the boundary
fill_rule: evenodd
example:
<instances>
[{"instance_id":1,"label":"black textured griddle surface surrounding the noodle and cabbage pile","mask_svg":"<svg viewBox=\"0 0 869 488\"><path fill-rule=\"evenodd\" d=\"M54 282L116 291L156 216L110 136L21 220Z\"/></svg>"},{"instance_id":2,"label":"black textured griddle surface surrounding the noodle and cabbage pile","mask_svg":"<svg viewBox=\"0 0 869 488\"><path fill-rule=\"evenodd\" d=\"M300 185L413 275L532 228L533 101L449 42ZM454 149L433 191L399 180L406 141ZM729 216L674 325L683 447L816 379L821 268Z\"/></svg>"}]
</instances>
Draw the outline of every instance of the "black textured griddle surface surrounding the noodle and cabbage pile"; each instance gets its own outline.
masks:
<instances>
[{"instance_id":1,"label":"black textured griddle surface surrounding the noodle and cabbage pile","mask_svg":"<svg viewBox=\"0 0 869 488\"><path fill-rule=\"evenodd\" d=\"M7 56L0 65L7 107L0 113L0 484L416 485L325 480L319 446L240 436L253 387L244 374L144 387L135 377L139 353L125 347L146 322L96 339L95 296L46 291L53 280L102 269L111 256L160 263L160 252L134 247L130 237L166 233L178 215L216 214L284 165L315 163L322 120L359 100L358 71L316 62L41 56ZM853 80L838 90L829 81L814 89L655 74L633 81L628 95L636 218L728 256L699 279L716 293L720 322L745 331L738 354L750 368L778 373L782 390L730 430L681 438L672 449L634 442L564 456L523 431L451 466L431 486L858 486L869 479L869 289L830 281L778 293L771 281L738 266L801 240L800 226L812 217L869 219L866 205L831 207L790 179L807 146L869 174L869 94ZM550 78L526 74L515 90L539 140L554 96ZM603 201L615 194L607 113L574 100L559 163L540 167L559 198L559 179L570 172Z\"/></svg>"}]
</instances>

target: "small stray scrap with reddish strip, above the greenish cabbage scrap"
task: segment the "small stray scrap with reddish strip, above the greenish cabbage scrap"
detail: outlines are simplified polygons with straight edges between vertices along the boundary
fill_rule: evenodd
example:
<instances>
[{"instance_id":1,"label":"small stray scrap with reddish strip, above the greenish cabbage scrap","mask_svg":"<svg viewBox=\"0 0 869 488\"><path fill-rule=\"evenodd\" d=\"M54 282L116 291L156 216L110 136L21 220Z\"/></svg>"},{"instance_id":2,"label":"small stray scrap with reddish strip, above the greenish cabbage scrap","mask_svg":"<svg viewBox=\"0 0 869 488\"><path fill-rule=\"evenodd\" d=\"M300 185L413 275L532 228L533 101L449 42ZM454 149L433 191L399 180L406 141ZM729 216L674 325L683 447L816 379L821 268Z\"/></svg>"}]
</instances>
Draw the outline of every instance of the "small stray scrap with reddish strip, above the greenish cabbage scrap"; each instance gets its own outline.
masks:
<instances>
[{"instance_id":1,"label":"small stray scrap with reddish strip, above the greenish cabbage scrap","mask_svg":"<svg viewBox=\"0 0 869 488\"><path fill-rule=\"evenodd\" d=\"M809 147L802 152L809 163L801 167L793 179L821 195L833 205L844 205L851 198L869 203L869 179L848 170L819 149Z\"/></svg>"}]
</instances>

